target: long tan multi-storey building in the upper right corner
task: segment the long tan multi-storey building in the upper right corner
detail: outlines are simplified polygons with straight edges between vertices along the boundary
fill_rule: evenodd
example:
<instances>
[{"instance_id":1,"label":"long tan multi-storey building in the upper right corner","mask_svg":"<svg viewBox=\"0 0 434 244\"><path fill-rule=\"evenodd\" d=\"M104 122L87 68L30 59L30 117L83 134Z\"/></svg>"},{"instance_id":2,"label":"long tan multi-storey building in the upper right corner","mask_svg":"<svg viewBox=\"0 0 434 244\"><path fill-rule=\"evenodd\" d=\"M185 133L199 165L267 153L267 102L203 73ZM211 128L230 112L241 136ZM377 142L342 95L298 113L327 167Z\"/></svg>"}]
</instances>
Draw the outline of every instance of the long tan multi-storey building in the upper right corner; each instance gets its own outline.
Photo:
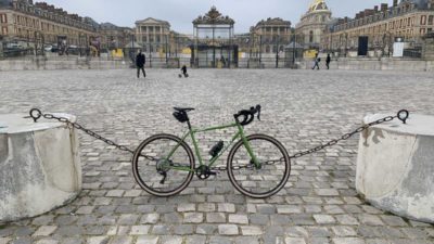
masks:
<instances>
[{"instance_id":1,"label":"long tan multi-storey building in the upper right corner","mask_svg":"<svg viewBox=\"0 0 434 244\"><path fill-rule=\"evenodd\" d=\"M391 52L395 38L407 42L406 48L422 46L422 37L434 27L433 0L394 0L374 9L360 11L354 18L339 18L323 40L324 49L357 50L360 36L368 37L369 50Z\"/></svg>"}]
</instances>

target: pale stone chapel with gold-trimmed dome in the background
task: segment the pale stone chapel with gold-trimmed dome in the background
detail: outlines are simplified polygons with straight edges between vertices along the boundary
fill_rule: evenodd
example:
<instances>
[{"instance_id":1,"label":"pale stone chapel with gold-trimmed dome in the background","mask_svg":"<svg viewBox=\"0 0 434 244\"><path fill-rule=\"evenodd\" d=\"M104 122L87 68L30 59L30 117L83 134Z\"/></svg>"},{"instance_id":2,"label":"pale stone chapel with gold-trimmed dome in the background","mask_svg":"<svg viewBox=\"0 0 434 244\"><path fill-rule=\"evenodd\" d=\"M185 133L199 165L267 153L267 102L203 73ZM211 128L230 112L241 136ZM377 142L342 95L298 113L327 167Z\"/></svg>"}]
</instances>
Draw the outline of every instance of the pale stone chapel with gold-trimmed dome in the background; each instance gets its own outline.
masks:
<instances>
[{"instance_id":1,"label":"pale stone chapel with gold-trimmed dome in the background","mask_svg":"<svg viewBox=\"0 0 434 244\"><path fill-rule=\"evenodd\" d=\"M305 48L319 49L328 24L332 21L332 12L324 0L315 0L295 27L297 42Z\"/></svg>"}]
</instances>

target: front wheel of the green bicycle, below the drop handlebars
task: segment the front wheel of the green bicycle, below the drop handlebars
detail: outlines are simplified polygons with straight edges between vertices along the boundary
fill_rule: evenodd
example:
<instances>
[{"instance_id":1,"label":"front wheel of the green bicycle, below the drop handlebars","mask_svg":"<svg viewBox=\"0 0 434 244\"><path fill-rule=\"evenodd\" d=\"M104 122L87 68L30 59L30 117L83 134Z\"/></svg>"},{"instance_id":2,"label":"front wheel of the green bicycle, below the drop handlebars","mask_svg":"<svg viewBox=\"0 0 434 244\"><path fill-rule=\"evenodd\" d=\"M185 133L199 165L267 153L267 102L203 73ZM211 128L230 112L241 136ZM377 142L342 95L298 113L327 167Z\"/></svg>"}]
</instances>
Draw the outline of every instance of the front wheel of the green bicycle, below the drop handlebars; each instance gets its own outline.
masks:
<instances>
[{"instance_id":1,"label":"front wheel of the green bicycle, below the drop handlebars","mask_svg":"<svg viewBox=\"0 0 434 244\"><path fill-rule=\"evenodd\" d=\"M254 198L269 197L278 193L290 178L290 156L284 146L272 137L252 134L246 140L260 167L255 167L243 140L240 140L229 152L229 179L244 195Z\"/></svg>"}]
</instances>

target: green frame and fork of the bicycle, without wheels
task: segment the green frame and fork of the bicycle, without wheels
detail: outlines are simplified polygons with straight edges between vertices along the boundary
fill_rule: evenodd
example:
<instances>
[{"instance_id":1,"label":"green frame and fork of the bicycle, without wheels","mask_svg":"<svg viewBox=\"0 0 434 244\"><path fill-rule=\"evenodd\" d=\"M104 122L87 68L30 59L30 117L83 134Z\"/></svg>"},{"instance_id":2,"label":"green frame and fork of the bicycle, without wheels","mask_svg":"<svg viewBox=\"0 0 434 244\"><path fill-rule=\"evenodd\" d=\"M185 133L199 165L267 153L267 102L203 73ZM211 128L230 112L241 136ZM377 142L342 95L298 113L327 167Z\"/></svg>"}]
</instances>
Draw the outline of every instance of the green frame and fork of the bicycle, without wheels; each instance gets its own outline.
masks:
<instances>
[{"instance_id":1,"label":"green frame and fork of the bicycle, without wheels","mask_svg":"<svg viewBox=\"0 0 434 244\"><path fill-rule=\"evenodd\" d=\"M231 141L229 142L228 145L226 145L217 156L213 157L208 164L206 164L206 166L212 167L213 165L215 165L215 163L220 158L220 156L229 150L229 147L232 146L232 144L239 139L241 138L241 140L243 140L243 144L245 146L245 149L247 150L248 155L252 157L253 163L255 165L255 167L259 167L259 162L257 160L256 156L254 155L251 144L248 143L247 139L245 138L244 134L244 129L243 127L239 124L239 123L234 123L234 124L230 124L230 125L225 125L225 126L216 126L216 127L209 127L209 128L205 128L205 129L193 129L190 125L190 123L188 121L189 125L189 131L186 132L182 138L181 138L181 142L184 142L186 139L190 136L191 140L193 142L193 146L194 146L194 153L197 157L199 164L200 166L205 165L203 159L202 159L202 155L201 152L199 150L199 143L197 140L195 139L195 134L196 133L201 133L201 132L206 132L206 131L213 131L213 130L221 130L221 129L227 129L227 128L233 128L237 127L238 128L238 132L232 137ZM181 142L179 142L170 152L169 154L166 156L166 159L170 158L174 153L177 151L177 149L181 145ZM170 166L171 169L176 169L176 170L182 170L182 171L190 171L190 172L194 172L194 169L191 169L188 166Z\"/></svg>"}]
</instances>

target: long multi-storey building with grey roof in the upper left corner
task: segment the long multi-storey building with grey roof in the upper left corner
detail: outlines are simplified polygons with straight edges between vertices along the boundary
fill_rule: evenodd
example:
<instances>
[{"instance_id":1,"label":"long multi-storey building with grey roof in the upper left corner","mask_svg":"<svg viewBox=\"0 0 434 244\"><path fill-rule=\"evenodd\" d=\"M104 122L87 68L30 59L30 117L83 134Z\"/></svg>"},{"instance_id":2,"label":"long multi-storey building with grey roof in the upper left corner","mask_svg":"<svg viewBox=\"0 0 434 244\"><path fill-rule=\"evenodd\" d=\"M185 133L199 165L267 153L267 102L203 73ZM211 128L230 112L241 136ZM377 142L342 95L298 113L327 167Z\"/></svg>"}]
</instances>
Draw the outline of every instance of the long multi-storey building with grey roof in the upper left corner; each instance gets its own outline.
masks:
<instances>
[{"instance_id":1,"label":"long multi-storey building with grey roof in the upper left corner","mask_svg":"<svg viewBox=\"0 0 434 244\"><path fill-rule=\"evenodd\" d=\"M97 33L89 17L69 14L63 9L31 0L5 0L0 3L0 35L3 41L22 46L37 42L84 46Z\"/></svg>"}]
</instances>

